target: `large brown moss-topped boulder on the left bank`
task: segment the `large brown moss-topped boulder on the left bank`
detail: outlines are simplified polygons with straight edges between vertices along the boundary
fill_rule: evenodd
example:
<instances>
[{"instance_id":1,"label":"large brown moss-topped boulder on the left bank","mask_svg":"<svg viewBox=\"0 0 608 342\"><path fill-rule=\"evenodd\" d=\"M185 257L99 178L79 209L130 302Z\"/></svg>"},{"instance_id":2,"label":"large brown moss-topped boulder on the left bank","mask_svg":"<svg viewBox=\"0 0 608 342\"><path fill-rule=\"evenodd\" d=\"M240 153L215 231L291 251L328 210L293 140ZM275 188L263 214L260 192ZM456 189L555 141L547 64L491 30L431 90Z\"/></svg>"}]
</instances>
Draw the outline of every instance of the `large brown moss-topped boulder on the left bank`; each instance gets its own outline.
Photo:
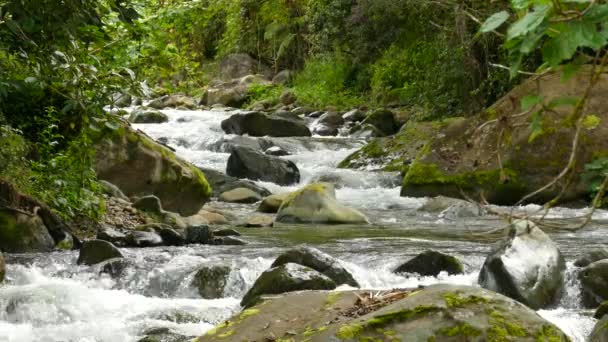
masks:
<instances>
[{"instance_id":1,"label":"large brown moss-topped boulder on the left bank","mask_svg":"<svg viewBox=\"0 0 608 342\"><path fill-rule=\"evenodd\" d=\"M209 200L211 188L198 168L129 126L108 134L96 147L99 179L129 197L155 195L166 210L184 216L196 214Z\"/></svg>"}]
</instances>

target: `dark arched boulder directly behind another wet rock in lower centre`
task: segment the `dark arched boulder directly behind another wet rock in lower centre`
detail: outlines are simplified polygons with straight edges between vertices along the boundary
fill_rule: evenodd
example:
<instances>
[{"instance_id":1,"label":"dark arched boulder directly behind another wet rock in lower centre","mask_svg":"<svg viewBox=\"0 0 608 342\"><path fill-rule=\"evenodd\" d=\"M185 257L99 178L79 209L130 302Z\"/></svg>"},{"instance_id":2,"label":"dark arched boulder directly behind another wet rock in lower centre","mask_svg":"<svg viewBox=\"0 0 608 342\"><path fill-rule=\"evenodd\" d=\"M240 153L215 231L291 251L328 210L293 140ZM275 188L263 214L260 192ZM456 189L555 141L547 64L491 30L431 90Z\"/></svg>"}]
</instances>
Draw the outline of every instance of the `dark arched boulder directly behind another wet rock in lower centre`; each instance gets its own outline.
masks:
<instances>
[{"instance_id":1,"label":"dark arched boulder directly behind another wet rock in lower centre","mask_svg":"<svg viewBox=\"0 0 608 342\"><path fill-rule=\"evenodd\" d=\"M299 247L290 249L279 255L270 267L277 267L288 263L310 267L327 276L338 285L347 284L359 287L359 283L357 283L350 272L340 265L338 259L316 248Z\"/></svg>"}]
</instances>

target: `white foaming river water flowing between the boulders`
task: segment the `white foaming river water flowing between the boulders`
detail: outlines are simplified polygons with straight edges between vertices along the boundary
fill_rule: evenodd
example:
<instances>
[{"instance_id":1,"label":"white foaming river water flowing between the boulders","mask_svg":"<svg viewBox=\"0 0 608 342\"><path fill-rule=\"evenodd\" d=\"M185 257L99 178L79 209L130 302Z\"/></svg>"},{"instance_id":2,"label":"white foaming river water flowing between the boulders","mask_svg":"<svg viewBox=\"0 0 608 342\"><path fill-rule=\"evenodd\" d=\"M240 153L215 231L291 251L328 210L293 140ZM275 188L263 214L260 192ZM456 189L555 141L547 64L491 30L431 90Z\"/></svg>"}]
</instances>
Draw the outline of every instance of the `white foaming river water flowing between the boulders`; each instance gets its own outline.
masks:
<instances>
[{"instance_id":1,"label":"white foaming river water flowing between the boulders","mask_svg":"<svg viewBox=\"0 0 608 342\"><path fill-rule=\"evenodd\" d=\"M136 125L161 139L178 155L194 164L224 171L228 160L220 122L233 113L221 111L164 111L164 124ZM314 122L311 122L313 125ZM0 287L0 342L15 341L137 341L146 330L165 327L199 336L237 312L240 299L256 277L290 246L308 244L337 258L366 289L416 287L434 283L473 285L490 250L488 239L473 239L471 231L485 231L504 223L494 217L451 220L421 213L425 199L399 196L398 175L337 169L336 165L363 145L342 138L272 138L273 144L291 153L302 174L302 184L331 179L338 184L339 201L368 215L370 226L307 226L242 229L246 246L186 246L125 249L133 260L119 279L92 266L78 266L77 252L6 255L7 284ZM260 183L272 192L282 187ZM254 206L214 203L238 217L247 217ZM508 209L508 208L505 208ZM537 210L534 206L517 210ZM581 215L581 210L555 209L557 221ZM573 260L581 251L608 243L602 230L607 212L597 212L592 224L576 233L554 234L568 261L567 286L558 307L539 314L583 342L595 321L579 306L580 293ZM459 257L465 274L406 277L391 273L399 263L425 249ZM203 265L227 265L232 274L225 298L201 299L191 286Z\"/></svg>"}]
</instances>

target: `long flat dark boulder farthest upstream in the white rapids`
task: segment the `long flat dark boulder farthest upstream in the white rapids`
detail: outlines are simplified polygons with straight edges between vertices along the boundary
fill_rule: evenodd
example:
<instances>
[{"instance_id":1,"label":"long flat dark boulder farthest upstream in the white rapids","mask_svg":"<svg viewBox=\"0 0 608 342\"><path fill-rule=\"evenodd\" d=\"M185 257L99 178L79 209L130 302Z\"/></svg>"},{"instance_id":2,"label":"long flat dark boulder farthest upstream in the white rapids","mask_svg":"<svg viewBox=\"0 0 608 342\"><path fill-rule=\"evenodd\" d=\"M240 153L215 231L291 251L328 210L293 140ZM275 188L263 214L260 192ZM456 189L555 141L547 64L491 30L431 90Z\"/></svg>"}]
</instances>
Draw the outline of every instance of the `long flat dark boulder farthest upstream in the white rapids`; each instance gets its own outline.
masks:
<instances>
[{"instance_id":1,"label":"long flat dark boulder farthest upstream in the white rapids","mask_svg":"<svg viewBox=\"0 0 608 342\"><path fill-rule=\"evenodd\" d=\"M238 113L222 121L227 134L249 134L253 137L309 137L310 130L303 122L269 116L261 112Z\"/></svg>"}]
</instances>

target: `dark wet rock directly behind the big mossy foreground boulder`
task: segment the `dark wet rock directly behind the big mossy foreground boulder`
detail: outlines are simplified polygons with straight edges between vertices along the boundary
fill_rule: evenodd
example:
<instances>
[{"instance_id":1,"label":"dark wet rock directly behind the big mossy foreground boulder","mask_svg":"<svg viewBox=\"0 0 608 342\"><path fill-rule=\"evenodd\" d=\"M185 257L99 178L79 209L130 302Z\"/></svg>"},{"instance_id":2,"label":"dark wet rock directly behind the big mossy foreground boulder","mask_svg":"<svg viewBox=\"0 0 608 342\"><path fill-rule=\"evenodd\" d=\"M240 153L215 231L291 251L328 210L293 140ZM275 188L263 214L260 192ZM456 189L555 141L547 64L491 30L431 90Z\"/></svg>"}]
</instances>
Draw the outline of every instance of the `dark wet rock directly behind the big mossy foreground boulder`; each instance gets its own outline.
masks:
<instances>
[{"instance_id":1,"label":"dark wet rock directly behind the big mossy foreground boulder","mask_svg":"<svg viewBox=\"0 0 608 342\"><path fill-rule=\"evenodd\" d=\"M327 276L312 268L289 263L264 271L245 294L241 305L245 308L253 306L262 295L335 288L336 283Z\"/></svg>"}]
</instances>

